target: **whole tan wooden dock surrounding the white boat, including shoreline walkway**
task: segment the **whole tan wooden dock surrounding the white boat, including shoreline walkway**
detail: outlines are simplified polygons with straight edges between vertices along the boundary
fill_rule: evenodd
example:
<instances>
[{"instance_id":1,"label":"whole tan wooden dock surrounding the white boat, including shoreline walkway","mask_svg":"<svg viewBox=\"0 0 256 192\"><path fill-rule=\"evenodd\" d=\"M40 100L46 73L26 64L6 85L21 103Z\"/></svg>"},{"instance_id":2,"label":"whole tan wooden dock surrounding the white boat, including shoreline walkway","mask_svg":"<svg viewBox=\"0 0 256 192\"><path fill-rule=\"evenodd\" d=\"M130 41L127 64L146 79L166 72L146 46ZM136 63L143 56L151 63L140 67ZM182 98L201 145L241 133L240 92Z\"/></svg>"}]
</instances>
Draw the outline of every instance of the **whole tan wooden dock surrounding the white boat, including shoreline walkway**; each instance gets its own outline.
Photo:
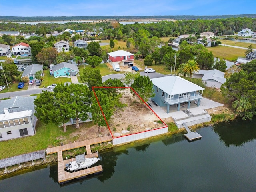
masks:
<instances>
[{"instance_id":1,"label":"whole tan wooden dock surrounding the white boat, including shoreline walkway","mask_svg":"<svg viewBox=\"0 0 256 192\"><path fill-rule=\"evenodd\" d=\"M67 171L65 171L65 167L66 167L65 165L68 164L70 161L75 161L76 158L63 160L62 151L70 150L70 149L74 149L74 148L80 148L80 147L85 146L86 153L87 153L85 155L85 158L98 157L98 151L96 151L95 153L92 153L90 145L108 142L108 141L112 141L112 136L104 136L104 137L100 137L100 138L65 144L63 146L56 146L56 147L48 148L46 150L47 154L58 153L58 181L59 181L59 183L66 182L66 181L69 181L69 180L72 180L75 178L87 176L90 174L100 173L103 171L102 166L98 165L98 166L90 167L90 168L83 169L83 170L77 170L76 172L72 172L72 173L67 172Z\"/></svg>"}]
</instances>

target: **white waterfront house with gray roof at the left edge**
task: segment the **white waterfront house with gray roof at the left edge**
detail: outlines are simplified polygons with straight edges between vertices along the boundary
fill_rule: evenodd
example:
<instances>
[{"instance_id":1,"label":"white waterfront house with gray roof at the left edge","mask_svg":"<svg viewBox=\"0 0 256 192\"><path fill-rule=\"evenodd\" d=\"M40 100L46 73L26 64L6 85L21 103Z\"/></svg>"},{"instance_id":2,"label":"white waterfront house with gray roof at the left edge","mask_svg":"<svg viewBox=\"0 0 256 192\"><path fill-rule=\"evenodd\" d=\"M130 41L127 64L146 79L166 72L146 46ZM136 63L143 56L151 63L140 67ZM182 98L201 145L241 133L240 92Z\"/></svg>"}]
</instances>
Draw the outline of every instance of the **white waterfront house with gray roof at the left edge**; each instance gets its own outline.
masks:
<instances>
[{"instance_id":1,"label":"white waterfront house with gray roof at the left edge","mask_svg":"<svg viewBox=\"0 0 256 192\"><path fill-rule=\"evenodd\" d=\"M16 96L0 101L0 141L35 134L35 98Z\"/></svg>"}]
</instances>

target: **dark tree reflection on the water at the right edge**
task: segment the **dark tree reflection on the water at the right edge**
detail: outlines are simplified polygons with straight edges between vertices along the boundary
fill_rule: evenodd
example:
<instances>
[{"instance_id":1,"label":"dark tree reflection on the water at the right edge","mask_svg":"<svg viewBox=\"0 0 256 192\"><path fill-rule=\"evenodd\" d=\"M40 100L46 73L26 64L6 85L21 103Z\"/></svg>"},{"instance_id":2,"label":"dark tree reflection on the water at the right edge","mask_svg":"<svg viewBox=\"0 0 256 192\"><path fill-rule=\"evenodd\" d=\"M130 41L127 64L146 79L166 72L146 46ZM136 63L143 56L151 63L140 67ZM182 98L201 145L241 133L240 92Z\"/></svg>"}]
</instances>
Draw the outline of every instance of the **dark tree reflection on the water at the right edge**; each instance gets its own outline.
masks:
<instances>
[{"instance_id":1,"label":"dark tree reflection on the water at the right edge","mask_svg":"<svg viewBox=\"0 0 256 192\"><path fill-rule=\"evenodd\" d=\"M213 130L219 135L225 146L241 146L256 139L256 119L219 123L214 125Z\"/></svg>"}]
</instances>

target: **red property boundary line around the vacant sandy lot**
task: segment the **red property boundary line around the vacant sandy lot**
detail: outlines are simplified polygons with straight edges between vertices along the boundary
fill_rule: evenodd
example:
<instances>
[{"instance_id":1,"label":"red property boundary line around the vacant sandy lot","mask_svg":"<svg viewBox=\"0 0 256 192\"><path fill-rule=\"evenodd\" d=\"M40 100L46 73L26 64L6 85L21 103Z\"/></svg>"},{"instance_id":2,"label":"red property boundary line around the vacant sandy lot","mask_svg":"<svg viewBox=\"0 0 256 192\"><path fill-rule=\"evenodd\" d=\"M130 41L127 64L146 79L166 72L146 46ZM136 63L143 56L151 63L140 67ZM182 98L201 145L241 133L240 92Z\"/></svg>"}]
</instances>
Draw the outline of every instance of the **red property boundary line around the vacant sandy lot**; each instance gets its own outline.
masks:
<instances>
[{"instance_id":1,"label":"red property boundary line around the vacant sandy lot","mask_svg":"<svg viewBox=\"0 0 256 192\"><path fill-rule=\"evenodd\" d=\"M137 93L133 88L131 88L131 87L92 87L92 91L93 91L93 93L94 93L94 96L95 96L95 98L96 98L96 100L97 100L99 106L100 106L100 102L99 102L98 97L97 97L97 95L96 95L96 93L95 93L95 91L94 91L94 88L104 88L104 89L106 89L106 88L116 88L116 89L117 89L117 88L118 88L118 89L127 89L127 88L130 88L130 89L140 98L140 100L142 100L142 101L144 102L144 104L146 104L146 102L145 102L145 101L138 95L138 93ZM166 125L166 123L163 122L163 120L148 106L148 104L146 104L146 106L147 106L147 107L162 121L162 123L165 125L165 126L162 126L162 127L160 127L160 128L156 128L156 129L154 129L154 130L162 129L162 128L168 127L168 126ZM104 112L103 112L101 106L100 106L100 110L101 110L101 112L102 112L102 115L103 115L103 117L104 117L104 119L105 119L105 122L106 122L106 124L107 124L107 126L108 126L108 130L110 131L110 134L111 134L111 136L112 136L113 139L114 139L114 138L120 138L120 137L128 136L128 135L123 135L123 136L114 137L114 136L112 135L112 132L111 132L111 130L110 130L110 127L109 127L109 125L108 125L108 122L107 122L107 120L106 120L106 117L105 117L105 115L104 115ZM138 133L143 133L143 132L148 132L148 131L152 131L152 130L146 130L146 131L142 131L142 132L138 132ZM134 135L134 134L138 134L138 133L132 133L132 134L129 134L129 135Z\"/></svg>"}]
</instances>

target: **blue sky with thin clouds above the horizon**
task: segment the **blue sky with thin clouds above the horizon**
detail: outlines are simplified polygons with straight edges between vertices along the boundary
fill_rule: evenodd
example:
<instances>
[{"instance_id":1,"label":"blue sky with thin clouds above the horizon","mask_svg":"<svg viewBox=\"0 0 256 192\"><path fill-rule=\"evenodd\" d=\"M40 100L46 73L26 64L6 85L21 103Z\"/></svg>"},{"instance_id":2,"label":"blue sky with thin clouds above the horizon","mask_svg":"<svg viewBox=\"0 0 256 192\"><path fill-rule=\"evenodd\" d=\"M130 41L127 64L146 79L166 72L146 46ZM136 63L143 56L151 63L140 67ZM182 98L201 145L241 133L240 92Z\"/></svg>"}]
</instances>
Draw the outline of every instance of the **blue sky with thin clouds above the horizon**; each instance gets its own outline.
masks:
<instances>
[{"instance_id":1,"label":"blue sky with thin clouds above the horizon","mask_svg":"<svg viewBox=\"0 0 256 192\"><path fill-rule=\"evenodd\" d=\"M256 0L0 0L1 16L256 14Z\"/></svg>"}]
</instances>

